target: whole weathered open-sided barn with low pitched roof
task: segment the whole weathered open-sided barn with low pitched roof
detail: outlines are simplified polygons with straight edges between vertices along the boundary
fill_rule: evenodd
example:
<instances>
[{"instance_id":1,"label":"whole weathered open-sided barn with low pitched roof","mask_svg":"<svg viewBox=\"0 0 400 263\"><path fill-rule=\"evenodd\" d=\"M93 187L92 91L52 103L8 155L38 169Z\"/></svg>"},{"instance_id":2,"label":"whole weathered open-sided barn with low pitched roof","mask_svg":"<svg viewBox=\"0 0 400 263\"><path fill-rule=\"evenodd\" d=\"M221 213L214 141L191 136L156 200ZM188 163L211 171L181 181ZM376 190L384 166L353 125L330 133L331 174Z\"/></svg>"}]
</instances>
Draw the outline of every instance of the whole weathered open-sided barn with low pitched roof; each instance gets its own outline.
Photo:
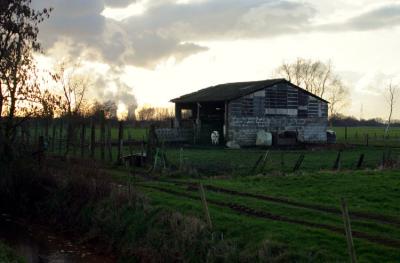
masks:
<instances>
[{"instance_id":1,"label":"whole weathered open-sided barn with low pitched roof","mask_svg":"<svg viewBox=\"0 0 400 263\"><path fill-rule=\"evenodd\" d=\"M303 143L327 139L328 102L285 79L221 84L171 102L175 128L193 129L199 143L210 143L213 131L221 143L240 146L255 145L260 131L271 133L275 143L279 138Z\"/></svg>"}]
</instances>

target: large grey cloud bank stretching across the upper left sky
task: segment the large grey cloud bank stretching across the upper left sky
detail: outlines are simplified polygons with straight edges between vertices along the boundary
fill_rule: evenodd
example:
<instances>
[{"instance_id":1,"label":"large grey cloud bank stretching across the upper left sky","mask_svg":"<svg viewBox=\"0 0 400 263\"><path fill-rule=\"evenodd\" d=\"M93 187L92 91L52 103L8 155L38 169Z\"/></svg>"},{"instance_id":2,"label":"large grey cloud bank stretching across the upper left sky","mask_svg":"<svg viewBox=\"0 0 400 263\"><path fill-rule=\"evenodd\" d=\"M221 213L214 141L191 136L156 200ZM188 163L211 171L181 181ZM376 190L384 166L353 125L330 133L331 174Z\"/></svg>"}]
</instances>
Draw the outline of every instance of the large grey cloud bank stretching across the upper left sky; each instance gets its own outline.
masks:
<instances>
[{"instance_id":1,"label":"large grey cloud bank stretching across the upper left sky","mask_svg":"<svg viewBox=\"0 0 400 263\"><path fill-rule=\"evenodd\" d=\"M142 4L145 12L122 21L101 15L106 6ZM45 48L67 41L75 56L116 66L152 68L162 60L182 60L208 48L199 41L263 38L307 30L315 10L280 0L37 0L54 7L41 25Z\"/></svg>"}]
</instances>

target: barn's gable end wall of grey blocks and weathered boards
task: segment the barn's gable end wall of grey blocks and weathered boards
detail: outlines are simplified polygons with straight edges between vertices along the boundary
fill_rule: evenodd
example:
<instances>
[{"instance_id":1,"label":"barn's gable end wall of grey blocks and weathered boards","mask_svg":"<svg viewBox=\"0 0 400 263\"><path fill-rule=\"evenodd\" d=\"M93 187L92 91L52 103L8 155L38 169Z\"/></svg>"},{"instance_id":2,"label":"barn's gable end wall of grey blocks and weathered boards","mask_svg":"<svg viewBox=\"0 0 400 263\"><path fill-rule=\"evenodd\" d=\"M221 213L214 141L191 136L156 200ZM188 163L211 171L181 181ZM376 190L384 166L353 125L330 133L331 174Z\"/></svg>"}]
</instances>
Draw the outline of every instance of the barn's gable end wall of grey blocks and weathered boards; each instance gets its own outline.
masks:
<instances>
[{"instance_id":1,"label":"barn's gable end wall of grey blocks and weathered boards","mask_svg":"<svg viewBox=\"0 0 400 263\"><path fill-rule=\"evenodd\" d=\"M229 103L228 138L240 145L254 145L256 134L296 132L301 142L326 142L327 102L279 83Z\"/></svg>"}]
</instances>

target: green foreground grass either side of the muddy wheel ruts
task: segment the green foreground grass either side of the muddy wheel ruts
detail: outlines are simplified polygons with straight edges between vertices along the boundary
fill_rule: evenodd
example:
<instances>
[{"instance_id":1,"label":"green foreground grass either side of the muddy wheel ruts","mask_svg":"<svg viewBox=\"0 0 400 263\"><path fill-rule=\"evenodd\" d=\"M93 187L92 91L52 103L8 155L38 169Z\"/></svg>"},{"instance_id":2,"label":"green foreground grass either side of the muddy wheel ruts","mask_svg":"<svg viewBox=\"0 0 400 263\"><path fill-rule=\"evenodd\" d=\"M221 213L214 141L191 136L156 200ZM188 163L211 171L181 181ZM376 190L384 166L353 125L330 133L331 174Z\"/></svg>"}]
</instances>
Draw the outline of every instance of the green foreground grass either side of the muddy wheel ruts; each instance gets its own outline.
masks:
<instances>
[{"instance_id":1,"label":"green foreground grass either side of the muddy wheel ruts","mask_svg":"<svg viewBox=\"0 0 400 263\"><path fill-rule=\"evenodd\" d=\"M198 182L199 180L185 180ZM220 186L242 192L259 193L275 197L312 204L339 207L340 197L345 197L352 211L364 211L384 214L400 218L398 203L400 202L400 177L398 171L363 171L363 172L320 172L304 173L289 176L254 176L245 178L201 179L205 185ZM156 185L178 192L188 193L181 185L164 182L150 182L145 185ZM154 204L168 207L186 214L203 216L199 200L171 195L155 189L141 187L151 197ZM198 196L197 192L192 192ZM233 202L248 207L301 219L315 223L326 223L342 226L340 215L331 215L296 207L274 204L253 198L243 198L227 194L207 191L209 200ZM238 214L229 208L210 204L210 214L215 230L224 233L226 238L233 239L241 248L251 251L265 242L287 244L291 251L303 253L312 261L322 255L323 261L346 261L348 258L344 234L327 230L305 227L301 225L260 219ZM384 225L370 220L352 220L353 231L362 231L400 240L400 231L396 226ZM355 238L355 248L360 262L396 262L400 260L400 251L395 248L371 243Z\"/></svg>"}]
</instances>

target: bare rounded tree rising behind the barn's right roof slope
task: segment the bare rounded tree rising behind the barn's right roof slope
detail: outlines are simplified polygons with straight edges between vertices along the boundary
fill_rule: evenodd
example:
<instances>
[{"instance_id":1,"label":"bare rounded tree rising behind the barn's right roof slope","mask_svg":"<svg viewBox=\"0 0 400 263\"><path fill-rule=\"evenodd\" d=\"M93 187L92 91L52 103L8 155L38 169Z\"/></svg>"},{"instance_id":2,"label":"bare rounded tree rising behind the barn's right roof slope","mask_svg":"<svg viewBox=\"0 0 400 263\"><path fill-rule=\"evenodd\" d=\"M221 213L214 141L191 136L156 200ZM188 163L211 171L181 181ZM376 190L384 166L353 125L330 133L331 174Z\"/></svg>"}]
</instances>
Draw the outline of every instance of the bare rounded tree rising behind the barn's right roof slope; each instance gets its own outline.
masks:
<instances>
[{"instance_id":1,"label":"bare rounded tree rising behind the barn's right roof slope","mask_svg":"<svg viewBox=\"0 0 400 263\"><path fill-rule=\"evenodd\" d=\"M338 114L348 103L349 91L338 75L332 70L330 61L298 58L293 63L283 63L276 75L293 84L328 100L330 116Z\"/></svg>"}]
</instances>

